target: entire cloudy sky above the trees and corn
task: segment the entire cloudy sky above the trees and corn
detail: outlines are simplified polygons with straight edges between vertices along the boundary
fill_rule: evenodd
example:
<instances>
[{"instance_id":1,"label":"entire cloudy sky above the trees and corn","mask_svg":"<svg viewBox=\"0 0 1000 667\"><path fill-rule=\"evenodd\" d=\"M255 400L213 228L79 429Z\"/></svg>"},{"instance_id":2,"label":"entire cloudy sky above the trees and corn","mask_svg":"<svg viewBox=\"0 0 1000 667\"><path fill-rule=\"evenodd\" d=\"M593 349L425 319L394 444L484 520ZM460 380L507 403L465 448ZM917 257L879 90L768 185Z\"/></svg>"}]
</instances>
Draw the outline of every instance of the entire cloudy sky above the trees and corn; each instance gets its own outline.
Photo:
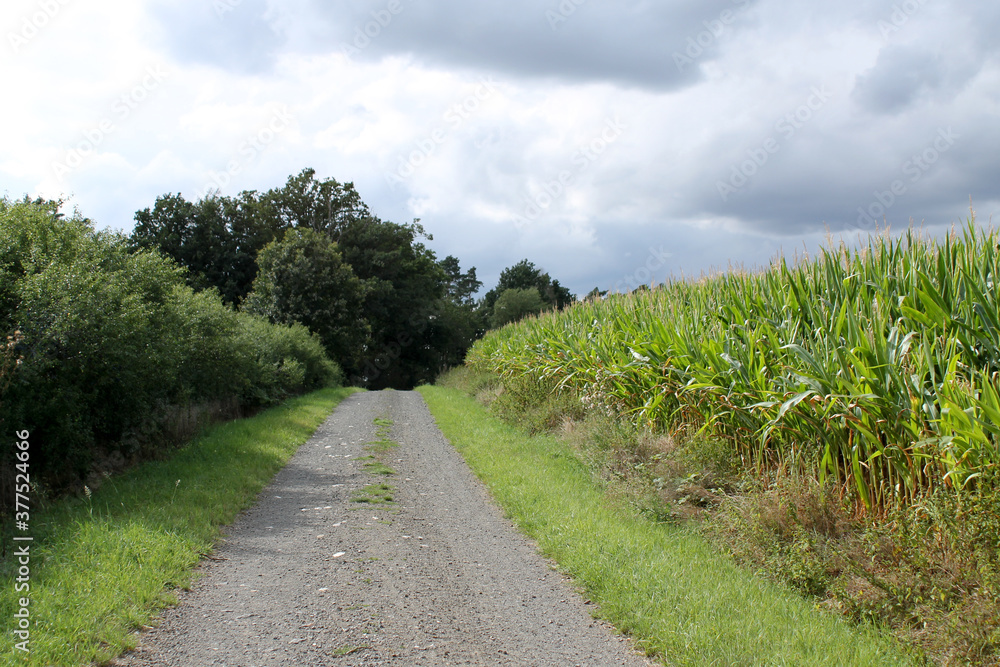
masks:
<instances>
[{"instance_id":1,"label":"entire cloudy sky above the trees and corn","mask_svg":"<svg viewBox=\"0 0 1000 667\"><path fill-rule=\"evenodd\" d=\"M1000 217L993 0L6 0L0 194L353 181L578 293Z\"/></svg>"}]
</instances>

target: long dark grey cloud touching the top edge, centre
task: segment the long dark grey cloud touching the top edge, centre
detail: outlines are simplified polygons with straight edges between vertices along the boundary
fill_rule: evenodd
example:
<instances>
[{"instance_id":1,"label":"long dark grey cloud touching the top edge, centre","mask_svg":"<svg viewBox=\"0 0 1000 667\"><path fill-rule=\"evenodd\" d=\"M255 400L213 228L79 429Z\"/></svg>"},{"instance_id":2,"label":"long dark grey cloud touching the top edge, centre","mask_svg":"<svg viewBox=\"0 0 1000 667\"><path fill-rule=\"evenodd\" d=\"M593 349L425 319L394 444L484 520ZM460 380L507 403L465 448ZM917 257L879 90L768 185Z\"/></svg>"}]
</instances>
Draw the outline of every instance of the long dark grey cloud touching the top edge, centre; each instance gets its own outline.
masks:
<instances>
[{"instance_id":1,"label":"long dark grey cloud touching the top edge, centre","mask_svg":"<svg viewBox=\"0 0 1000 667\"><path fill-rule=\"evenodd\" d=\"M366 0L314 11L326 20L326 45L360 58L412 54L434 65L672 89L700 77L698 66L743 25L753 1Z\"/></svg>"}]
</instances>

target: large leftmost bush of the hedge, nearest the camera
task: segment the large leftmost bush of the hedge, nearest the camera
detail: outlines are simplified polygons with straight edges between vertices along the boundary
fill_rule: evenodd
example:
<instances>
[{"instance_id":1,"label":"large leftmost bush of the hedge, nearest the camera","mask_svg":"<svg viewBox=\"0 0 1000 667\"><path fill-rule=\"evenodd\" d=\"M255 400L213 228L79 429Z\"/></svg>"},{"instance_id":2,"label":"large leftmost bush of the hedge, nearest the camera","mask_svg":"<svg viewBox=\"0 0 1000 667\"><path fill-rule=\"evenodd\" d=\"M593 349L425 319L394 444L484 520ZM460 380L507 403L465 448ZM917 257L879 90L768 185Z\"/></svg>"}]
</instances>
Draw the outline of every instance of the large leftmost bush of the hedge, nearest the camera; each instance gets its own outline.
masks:
<instances>
[{"instance_id":1,"label":"large leftmost bush of the hedge, nearest the camera","mask_svg":"<svg viewBox=\"0 0 1000 667\"><path fill-rule=\"evenodd\" d=\"M121 440L171 398L175 364L157 330L181 275L84 221L38 212L4 210L3 319L21 332L24 360L0 410L8 428L33 433L34 469L59 485L85 474L96 444Z\"/></svg>"}]
</instances>

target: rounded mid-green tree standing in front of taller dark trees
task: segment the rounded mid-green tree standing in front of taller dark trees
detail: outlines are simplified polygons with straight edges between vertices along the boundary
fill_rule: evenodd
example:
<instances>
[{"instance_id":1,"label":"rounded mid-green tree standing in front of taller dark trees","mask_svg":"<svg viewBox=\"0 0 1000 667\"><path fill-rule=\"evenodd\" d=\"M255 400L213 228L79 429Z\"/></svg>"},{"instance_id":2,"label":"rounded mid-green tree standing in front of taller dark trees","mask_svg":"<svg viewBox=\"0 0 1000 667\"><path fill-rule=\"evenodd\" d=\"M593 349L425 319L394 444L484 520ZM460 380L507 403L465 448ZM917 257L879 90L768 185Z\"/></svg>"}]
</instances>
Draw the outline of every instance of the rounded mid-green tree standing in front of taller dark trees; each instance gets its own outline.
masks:
<instances>
[{"instance_id":1,"label":"rounded mid-green tree standing in front of taller dark trees","mask_svg":"<svg viewBox=\"0 0 1000 667\"><path fill-rule=\"evenodd\" d=\"M292 229L257 256L253 291L243 309L271 322L305 325L344 366L358 363L370 329L361 316L362 282L325 234Z\"/></svg>"}]
</instances>

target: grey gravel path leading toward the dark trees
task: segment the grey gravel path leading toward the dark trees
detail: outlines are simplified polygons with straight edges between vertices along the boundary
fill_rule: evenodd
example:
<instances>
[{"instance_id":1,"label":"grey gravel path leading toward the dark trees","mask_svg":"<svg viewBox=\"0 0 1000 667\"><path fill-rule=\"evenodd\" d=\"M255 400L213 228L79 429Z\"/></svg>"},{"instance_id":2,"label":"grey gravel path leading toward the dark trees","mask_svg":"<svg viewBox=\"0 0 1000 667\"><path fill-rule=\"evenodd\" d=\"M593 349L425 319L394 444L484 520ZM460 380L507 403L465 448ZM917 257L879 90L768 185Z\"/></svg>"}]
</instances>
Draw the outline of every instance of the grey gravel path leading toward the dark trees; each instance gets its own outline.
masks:
<instances>
[{"instance_id":1,"label":"grey gravel path leading toward the dark trees","mask_svg":"<svg viewBox=\"0 0 1000 667\"><path fill-rule=\"evenodd\" d=\"M391 420L399 443L363 469ZM369 459L370 461L370 459ZM357 502L382 479L393 502ZM504 519L415 392L345 400L121 667L649 665Z\"/></svg>"}]
</instances>

